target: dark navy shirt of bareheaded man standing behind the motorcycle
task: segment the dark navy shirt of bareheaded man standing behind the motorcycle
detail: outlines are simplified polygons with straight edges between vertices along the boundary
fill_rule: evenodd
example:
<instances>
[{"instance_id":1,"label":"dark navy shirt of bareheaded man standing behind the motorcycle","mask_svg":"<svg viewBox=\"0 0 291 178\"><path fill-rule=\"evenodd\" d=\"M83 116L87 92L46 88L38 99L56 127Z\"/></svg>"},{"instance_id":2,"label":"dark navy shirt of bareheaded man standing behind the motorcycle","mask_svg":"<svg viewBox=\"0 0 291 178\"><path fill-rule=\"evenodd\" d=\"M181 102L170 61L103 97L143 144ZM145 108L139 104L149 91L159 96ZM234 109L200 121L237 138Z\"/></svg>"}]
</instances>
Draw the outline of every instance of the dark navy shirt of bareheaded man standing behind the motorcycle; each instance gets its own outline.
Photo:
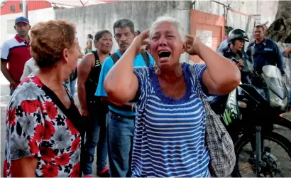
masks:
<instances>
[{"instance_id":1,"label":"dark navy shirt of bareheaded man standing behind the motorcycle","mask_svg":"<svg viewBox=\"0 0 291 178\"><path fill-rule=\"evenodd\" d=\"M253 55L253 68L259 73L262 72L263 66L277 66L281 73L284 74L284 63L282 61L282 52L278 45L269 38L264 38L262 43L252 42L248 48L254 46L256 53Z\"/></svg>"}]
</instances>

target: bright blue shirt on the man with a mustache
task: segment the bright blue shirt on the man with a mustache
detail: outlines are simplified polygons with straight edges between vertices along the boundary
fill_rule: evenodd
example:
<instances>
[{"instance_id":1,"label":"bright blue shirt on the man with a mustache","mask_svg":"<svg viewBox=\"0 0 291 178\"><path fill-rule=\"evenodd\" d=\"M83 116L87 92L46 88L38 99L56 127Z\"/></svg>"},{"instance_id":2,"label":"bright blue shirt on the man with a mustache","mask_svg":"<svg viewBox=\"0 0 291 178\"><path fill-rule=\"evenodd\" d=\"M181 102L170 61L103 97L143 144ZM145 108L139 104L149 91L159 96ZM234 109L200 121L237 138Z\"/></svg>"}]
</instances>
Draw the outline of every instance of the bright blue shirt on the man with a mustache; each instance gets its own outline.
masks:
<instances>
[{"instance_id":1,"label":"bright blue shirt on the man with a mustache","mask_svg":"<svg viewBox=\"0 0 291 178\"><path fill-rule=\"evenodd\" d=\"M119 53L119 51L117 51L116 54L119 56L119 58L121 58L121 53ZM153 61L153 57L150 56L149 53L148 53L148 56L149 56L150 66L154 66L155 65L155 61ZM96 90L95 95L107 97L107 93L106 93L106 91L104 89L104 80L105 80L105 77L106 77L107 73L113 67L113 65L114 65L113 59L110 56L107 57L105 59L105 61L102 63L101 73L100 73L100 76L99 76L98 88ZM146 62L143 60L143 56L141 56L141 54L139 54L133 60L133 67L141 67L141 66L146 66ZM116 113L119 113L121 115L126 115L126 116L134 116L134 115L136 115L136 112L119 110L119 109L114 108L114 107L112 107L110 105L108 107L109 107L110 110L112 110L112 111L114 111Z\"/></svg>"}]
</instances>

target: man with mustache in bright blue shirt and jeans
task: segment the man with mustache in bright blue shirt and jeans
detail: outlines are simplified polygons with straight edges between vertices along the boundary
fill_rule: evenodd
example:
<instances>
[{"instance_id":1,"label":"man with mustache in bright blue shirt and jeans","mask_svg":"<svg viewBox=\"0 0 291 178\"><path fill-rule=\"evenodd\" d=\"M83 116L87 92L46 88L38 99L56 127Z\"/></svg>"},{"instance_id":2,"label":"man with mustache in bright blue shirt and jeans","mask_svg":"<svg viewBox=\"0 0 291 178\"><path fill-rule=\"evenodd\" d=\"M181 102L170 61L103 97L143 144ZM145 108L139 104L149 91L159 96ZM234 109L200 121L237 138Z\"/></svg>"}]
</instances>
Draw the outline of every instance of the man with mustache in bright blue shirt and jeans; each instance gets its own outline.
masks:
<instances>
[{"instance_id":1,"label":"man with mustache in bright blue shirt and jeans","mask_svg":"<svg viewBox=\"0 0 291 178\"><path fill-rule=\"evenodd\" d=\"M114 38L119 45L116 55L121 55L131 45L136 37L133 22L128 19L116 21L113 26ZM132 103L113 103L107 98L104 89L104 80L110 68L114 66L113 56L102 63L98 88L95 95L101 97L103 102L109 105L109 169L110 177L131 177L131 153L133 144L135 107ZM149 65L153 66L152 56L148 54ZM146 61L140 54L133 61L133 66L146 66ZM116 88L118 90L118 88Z\"/></svg>"}]
</instances>

